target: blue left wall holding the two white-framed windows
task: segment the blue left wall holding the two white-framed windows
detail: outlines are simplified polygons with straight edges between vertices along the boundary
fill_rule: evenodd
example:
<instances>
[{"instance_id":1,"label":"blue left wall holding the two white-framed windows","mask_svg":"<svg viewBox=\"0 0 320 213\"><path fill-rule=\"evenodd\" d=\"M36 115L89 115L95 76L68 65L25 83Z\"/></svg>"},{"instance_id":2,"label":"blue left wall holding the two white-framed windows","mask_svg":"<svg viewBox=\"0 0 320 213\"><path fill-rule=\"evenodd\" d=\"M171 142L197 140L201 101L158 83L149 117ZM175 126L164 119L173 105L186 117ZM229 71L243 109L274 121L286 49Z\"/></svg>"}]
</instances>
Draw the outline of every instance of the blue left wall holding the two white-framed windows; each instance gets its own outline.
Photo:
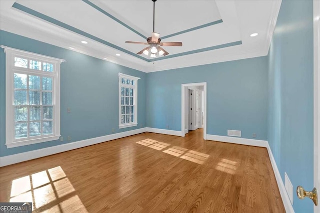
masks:
<instances>
[{"instance_id":1,"label":"blue left wall holding the two white-framed windows","mask_svg":"<svg viewBox=\"0 0 320 213\"><path fill-rule=\"evenodd\" d=\"M146 73L63 49L37 40L0 31L0 44L65 59L61 63L61 135L64 142L45 143L7 149L5 144L5 53L0 49L0 156L60 145L71 141L145 127ZM138 80L138 126L118 128L118 73L140 77ZM67 113L66 108L71 108Z\"/></svg>"}]
</instances>

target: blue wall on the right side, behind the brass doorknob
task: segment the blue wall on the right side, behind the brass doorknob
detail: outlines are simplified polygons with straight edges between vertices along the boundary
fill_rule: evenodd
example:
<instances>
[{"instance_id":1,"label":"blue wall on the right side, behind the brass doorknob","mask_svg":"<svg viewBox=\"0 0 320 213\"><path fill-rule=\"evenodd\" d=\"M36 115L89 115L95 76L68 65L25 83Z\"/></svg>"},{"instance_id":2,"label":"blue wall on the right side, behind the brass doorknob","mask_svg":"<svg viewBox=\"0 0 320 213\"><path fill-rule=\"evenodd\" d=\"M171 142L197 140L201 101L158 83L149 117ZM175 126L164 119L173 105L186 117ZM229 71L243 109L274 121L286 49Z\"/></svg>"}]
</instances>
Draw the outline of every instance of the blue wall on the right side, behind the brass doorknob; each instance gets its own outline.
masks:
<instances>
[{"instance_id":1,"label":"blue wall on the right side, behind the brass doorknob","mask_svg":"<svg viewBox=\"0 0 320 213\"><path fill-rule=\"evenodd\" d=\"M268 142L284 182L313 188L312 1L282 0L268 54ZM293 196L295 213L313 212Z\"/></svg>"}]
</instances>

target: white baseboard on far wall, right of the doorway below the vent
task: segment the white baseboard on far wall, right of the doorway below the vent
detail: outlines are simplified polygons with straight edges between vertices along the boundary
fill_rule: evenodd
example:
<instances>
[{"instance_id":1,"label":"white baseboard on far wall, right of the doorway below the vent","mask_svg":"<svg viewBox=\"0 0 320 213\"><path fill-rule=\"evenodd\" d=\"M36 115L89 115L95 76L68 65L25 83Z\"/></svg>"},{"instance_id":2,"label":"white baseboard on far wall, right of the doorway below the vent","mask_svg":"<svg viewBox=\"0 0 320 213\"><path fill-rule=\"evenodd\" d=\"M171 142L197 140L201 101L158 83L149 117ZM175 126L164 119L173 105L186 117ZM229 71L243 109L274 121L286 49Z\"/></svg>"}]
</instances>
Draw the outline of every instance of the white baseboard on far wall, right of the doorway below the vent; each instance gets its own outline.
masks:
<instances>
[{"instance_id":1,"label":"white baseboard on far wall, right of the doorway below the vent","mask_svg":"<svg viewBox=\"0 0 320 213\"><path fill-rule=\"evenodd\" d=\"M220 135L206 135L206 140L226 142L226 143L232 143L232 144L241 144L241 145L248 145L248 146L255 146L255 147L267 147L267 144L268 144L267 141L262 141L262 140L234 138L234 137L220 136Z\"/></svg>"}]
</instances>

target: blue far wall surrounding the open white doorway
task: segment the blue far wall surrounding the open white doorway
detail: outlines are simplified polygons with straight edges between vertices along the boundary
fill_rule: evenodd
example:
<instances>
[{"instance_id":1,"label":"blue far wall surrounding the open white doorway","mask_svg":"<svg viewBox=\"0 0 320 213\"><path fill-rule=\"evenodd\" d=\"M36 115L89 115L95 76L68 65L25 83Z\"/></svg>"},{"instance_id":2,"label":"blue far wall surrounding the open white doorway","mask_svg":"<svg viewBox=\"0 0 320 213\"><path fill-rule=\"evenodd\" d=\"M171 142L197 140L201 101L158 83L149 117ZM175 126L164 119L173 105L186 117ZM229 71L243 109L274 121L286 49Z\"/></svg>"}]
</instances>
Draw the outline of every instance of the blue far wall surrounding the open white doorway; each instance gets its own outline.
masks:
<instances>
[{"instance_id":1,"label":"blue far wall surrounding the open white doorway","mask_svg":"<svg viewBox=\"0 0 320 213\"><path fill-rule=\"evenodd\" d=\"M207 134L267 139L267 57L147 74L147 126L181 130L181 84L207 82Z\"/></svg>"}]
</instances>

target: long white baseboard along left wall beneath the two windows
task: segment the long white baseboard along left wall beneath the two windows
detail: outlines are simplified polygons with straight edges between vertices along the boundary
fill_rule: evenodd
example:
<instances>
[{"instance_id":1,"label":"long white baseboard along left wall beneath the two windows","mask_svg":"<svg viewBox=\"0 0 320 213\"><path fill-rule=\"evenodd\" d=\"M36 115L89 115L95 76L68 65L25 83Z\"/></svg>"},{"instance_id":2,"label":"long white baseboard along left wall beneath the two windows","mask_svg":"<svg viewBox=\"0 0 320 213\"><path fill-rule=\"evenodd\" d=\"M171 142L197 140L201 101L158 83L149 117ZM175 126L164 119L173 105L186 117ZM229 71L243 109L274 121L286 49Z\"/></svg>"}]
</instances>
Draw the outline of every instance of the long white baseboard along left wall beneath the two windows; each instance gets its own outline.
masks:
<instances>
[{"instance_id":1,"label":"long white baseboard along left wall beneath the two windows","mask_svg":"<svg viewBox=\"0 0 320 213\"><path fill-rule=\"evenodd\" d=\"M130 130L130 131L126 131L126 132L120 132L120 133L115 133L115 134L111 134L111 135L90 138L90 139L86 139L86 140L82 140L82 141L61 144L61 145L57 145L57 146L53 146L53 147L32 150L29 152L22 152L22 153L18 153L18 154L14 154L14 155L3 156L3 157L0 157L0 167L11 165L11 164L16 164L19 162L28 161L28 160L32 160L32 159L36 159L36 158L41 158L41 157L48 156L48 155L53 155L53 154L60 153L60 152L78 149L78 148L90 146L93 144L111 141L111 140L118 139L118 138L136 135L136 134L143 133L143 132L147 132L146 128L140 128L140 129L136 129L136 130Z\"/></svg>"}]
</instances>

